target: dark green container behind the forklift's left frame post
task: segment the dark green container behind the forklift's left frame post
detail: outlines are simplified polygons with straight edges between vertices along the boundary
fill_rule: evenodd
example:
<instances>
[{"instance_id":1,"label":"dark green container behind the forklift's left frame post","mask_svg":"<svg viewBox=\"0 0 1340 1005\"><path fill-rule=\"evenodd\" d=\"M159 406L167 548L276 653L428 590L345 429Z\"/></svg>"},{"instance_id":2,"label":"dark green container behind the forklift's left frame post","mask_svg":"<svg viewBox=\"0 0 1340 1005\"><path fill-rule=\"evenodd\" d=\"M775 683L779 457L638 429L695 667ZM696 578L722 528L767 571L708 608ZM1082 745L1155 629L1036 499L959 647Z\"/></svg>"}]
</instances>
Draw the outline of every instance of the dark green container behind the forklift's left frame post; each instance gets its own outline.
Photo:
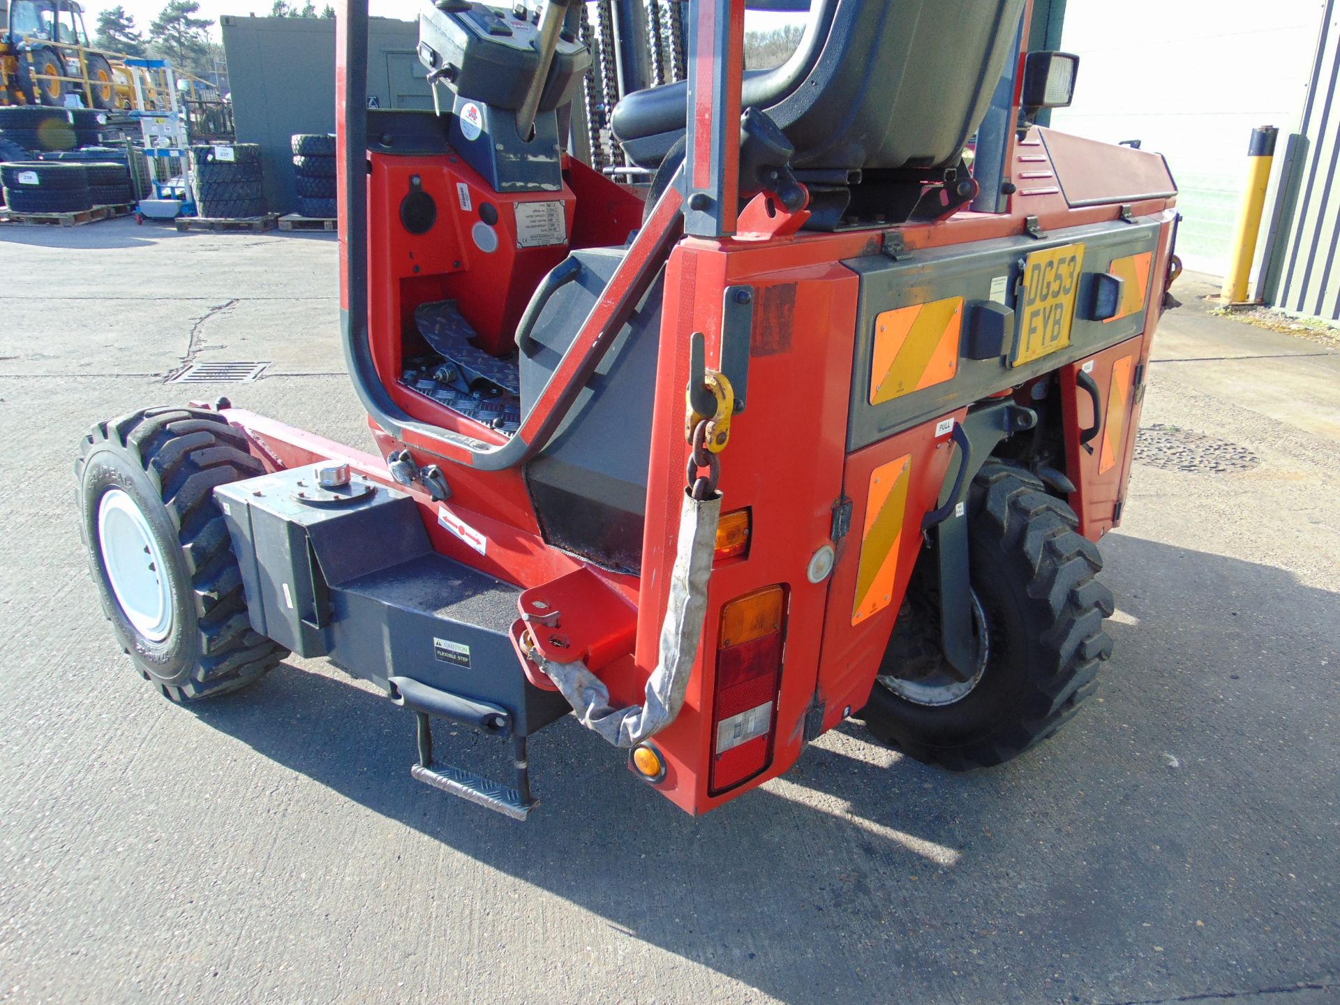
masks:
<instances>
[{"instance_id":1,"label":"dark green container behind the forklift's left frame post","mask_svg":"<svg viewBox=\"0 0 1340 1005\"><path fill-rule=\"evenodd\" d=\"M260 143L269 209L297 209L289 137L335 131L335 20L220 19L232 80L237 142ZM373 17L367 92L383 109L431 109L414 50L418 24Z\"/></svg>"}]
</instances>

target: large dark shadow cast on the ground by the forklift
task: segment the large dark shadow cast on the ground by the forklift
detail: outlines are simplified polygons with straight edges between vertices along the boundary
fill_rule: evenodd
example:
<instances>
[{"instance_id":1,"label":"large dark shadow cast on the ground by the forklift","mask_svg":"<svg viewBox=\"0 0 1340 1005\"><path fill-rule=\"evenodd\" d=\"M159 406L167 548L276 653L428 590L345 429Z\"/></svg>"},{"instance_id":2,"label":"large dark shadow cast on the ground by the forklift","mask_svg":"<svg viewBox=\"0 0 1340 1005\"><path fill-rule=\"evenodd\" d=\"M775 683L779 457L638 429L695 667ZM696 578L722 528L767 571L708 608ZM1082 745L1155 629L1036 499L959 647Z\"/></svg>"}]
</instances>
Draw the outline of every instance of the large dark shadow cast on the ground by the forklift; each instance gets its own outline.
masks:
<instances>
[{"instance_id":1,"label":"large dark shadow cast on the ground by the forklift","mask_svg":"<svg viewBox=\"0 0 1340 1005\"><path fill-rule=\"evenodd\" d=\"M532 742L541 805L517 825L414 783L411 718L331 677L283 667L197 714L788 1002L891 986L909 1000L1156 1000L1325 977L1340 945L1324 809L1336 596L1122 535L1104 552L1124 614L1101 701L989 772L884 764L848 722L785 779L691 819L568 718ZM1311 627L1281 641L1281 624ZM441 760L503 772L501 746L437 732Z\"/></svg>"}]
</instances>

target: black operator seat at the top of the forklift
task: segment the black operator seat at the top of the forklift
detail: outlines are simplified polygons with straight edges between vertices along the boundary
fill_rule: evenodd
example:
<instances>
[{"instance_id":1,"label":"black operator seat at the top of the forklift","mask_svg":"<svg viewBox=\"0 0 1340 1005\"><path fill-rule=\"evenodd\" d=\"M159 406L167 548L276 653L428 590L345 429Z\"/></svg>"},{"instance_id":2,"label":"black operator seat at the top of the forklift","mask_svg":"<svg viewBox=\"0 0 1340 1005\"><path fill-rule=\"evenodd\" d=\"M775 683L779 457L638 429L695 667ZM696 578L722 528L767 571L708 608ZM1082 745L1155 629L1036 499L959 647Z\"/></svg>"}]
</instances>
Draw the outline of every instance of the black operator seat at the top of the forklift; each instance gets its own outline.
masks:
<instances>
[{"instance_id":1,"label":"black operator seat at the top of the forklift","mask_svg":"<svg viewBox=\"0 0 1340 1005\"><path fill-rule=\"evenodd\" d=\"M1024 0L815 0L800 46L749 71L741 109L761 109L796 147L795 170L958 163L1024 12ZM687 83L634 91L611 130L639 168L683 135Z\"/></svg>"}]
</instances>

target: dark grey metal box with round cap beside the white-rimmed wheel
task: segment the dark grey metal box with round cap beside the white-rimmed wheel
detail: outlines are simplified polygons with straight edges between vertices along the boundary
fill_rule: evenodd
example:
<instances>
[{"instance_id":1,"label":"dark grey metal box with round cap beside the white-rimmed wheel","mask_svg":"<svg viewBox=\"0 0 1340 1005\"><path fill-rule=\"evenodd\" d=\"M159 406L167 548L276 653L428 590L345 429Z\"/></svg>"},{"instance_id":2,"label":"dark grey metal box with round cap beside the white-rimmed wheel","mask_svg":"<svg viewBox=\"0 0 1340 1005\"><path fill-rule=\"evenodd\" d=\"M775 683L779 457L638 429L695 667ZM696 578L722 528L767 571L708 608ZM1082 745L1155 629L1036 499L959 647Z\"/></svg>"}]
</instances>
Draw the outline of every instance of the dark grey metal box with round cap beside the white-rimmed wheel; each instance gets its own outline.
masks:
<instances>
[{"instance_id":1,"label":"dark grey metal box with round cap beside the white-rimmed wheel","mask_svg":"<svg viewBox=\"0 0 1340 1005\"><path fill-rule=\"evenodd\" d=\"M568 712L517 665L517 587L437 553L403 492L354 476L322 493L316 465L214 489L256 631L383 687L490 702L521 736Z\"/></svg>"}]
</instances>

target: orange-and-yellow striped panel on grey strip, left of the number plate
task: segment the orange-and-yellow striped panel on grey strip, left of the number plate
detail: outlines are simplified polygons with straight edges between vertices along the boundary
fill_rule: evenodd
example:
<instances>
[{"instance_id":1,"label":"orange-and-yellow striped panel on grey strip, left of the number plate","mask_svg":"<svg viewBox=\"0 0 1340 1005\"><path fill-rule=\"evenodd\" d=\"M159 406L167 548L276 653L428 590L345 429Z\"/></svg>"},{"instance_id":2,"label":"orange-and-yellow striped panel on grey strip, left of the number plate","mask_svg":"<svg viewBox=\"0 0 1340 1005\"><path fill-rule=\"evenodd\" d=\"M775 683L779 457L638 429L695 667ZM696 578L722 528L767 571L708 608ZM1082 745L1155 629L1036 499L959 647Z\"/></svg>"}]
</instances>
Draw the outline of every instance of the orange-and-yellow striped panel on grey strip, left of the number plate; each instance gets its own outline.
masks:
<instances>
[{"instance_id":1,"label":"orange-and-yellow striped panel on grey strip, left of the number plate","mask_svg":"<svg viewBox=\"0 0 1340 1005\"><path fill-rule=\"evenodd\" d=\"M892 401L958 373L963 297L884 311L875 319L870 403Z\"/></svg>"}]
</instances>

